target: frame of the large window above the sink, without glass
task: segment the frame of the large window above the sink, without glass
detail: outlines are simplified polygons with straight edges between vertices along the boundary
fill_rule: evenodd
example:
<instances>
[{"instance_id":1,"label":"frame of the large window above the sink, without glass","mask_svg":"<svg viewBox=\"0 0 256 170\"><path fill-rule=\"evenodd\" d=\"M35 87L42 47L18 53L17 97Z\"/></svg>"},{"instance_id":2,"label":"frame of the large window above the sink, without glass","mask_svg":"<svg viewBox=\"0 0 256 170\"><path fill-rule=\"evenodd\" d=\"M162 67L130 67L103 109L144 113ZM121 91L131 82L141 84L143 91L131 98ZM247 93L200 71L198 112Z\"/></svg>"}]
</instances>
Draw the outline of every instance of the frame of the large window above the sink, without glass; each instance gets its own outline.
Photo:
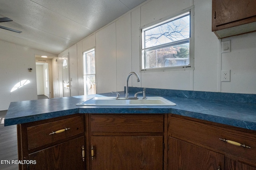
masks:
<instances>
[{"instance_id":1,"label":"frame of the large window above the sink, without glass","mask_svg":"<svg viewBox=\"0 0 256 170\"><path fill-rule=\"evenodd\" d=\"M172 44L175 43L180 43L182 41L190 41L190 46L189 46L189 55L190 55L190 64L187 66L169 66L169 67L158 67L158 68L142 68L142 66L144 65L144 54L143 54L143 50L148 49L142 49L142 43L144 42L144 37L142 36L143 33L143 29L150 29L153 27L156 27L157 25L162 25L164 23L168 23L170 20L172 20L172 18L175 18L177 16L180 16L184 13L190 12L190 37L180 40L180 41L174 41L171 43L167 43L167 44L163 44L163 45L158 45L158 46L154 46L153 48L157 48L157 47L166 47L166 46L170 46ZM162 18L156 22L150 23L148 25L144 25L143 27L140 27L139 29L140 31L140 72L154 72L154 71L171 71L171 70L194 70L194 6L190 6L189 8L186 8L174 15ZM151 47L152 49L152 47Z\"/></svg>"}]
</instances>

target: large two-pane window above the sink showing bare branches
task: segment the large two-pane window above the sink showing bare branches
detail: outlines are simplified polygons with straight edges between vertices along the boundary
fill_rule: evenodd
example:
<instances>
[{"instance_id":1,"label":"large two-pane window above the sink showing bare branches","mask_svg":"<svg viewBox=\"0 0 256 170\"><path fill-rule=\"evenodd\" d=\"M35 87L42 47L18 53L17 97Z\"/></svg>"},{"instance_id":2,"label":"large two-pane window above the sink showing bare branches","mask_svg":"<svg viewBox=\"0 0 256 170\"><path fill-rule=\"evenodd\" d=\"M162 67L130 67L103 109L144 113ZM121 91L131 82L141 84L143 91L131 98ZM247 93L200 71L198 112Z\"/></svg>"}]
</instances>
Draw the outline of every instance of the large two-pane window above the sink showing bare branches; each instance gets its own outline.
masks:
<instances>
[{"instance_id":1,"label":"large two-pane window above the sink showing bare branches","mask_svg":"<svg viewBox=\"0 0 256 170\"><path fill-rule=\"evenodd\" d=\"M191 8L167 20L141 28L141 70L192 66Z\"/></svg>"}]
</instances>

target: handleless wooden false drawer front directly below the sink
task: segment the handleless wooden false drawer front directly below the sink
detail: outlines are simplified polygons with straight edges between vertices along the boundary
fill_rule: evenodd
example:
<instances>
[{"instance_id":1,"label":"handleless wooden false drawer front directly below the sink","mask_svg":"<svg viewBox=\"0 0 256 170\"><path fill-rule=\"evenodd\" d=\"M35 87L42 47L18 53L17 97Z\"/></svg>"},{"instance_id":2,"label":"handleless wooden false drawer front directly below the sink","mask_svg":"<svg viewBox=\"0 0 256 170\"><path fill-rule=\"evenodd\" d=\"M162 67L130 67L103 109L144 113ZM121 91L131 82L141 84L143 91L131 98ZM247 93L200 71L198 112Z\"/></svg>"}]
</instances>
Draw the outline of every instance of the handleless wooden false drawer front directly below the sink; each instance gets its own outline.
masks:
<instances>
[{"instance_id":1,"label":"handleless wooden false drawer front directly below the sink","mask_svg":"<svg viewBox=\"0 0 256 170\"><path fill-rule=\"evenodd\" d=\"M164 131L164 115L91 115L92 132L160 132Z\"/></svg>"}]
</instances>

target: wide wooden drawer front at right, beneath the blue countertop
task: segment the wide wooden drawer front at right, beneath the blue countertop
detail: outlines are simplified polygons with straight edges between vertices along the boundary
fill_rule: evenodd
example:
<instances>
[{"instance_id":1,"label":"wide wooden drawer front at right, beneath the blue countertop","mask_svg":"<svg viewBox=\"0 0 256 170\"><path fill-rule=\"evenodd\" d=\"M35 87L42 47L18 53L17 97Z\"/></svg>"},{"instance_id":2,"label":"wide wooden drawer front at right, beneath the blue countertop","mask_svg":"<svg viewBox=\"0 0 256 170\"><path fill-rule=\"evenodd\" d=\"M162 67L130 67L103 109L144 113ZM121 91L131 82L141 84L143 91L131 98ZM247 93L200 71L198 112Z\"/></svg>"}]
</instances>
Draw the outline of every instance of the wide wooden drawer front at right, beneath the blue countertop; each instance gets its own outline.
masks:
<instances>
[{"instance_id":1,"label":"wide wooden drawer front at right, beneath the blue countertop","mask_svg":"<svg viewBox=\"0 0 256 170\"><path fill-rule=\"evenodd\" d=\"M196 121L169 117L169 136L212 149L234 159L256 166L256 133L208 125ZM252 132L252 133L251 133ZM245 144L249 148L221 141L226 139Z\"/></svg>"}]
</instances>

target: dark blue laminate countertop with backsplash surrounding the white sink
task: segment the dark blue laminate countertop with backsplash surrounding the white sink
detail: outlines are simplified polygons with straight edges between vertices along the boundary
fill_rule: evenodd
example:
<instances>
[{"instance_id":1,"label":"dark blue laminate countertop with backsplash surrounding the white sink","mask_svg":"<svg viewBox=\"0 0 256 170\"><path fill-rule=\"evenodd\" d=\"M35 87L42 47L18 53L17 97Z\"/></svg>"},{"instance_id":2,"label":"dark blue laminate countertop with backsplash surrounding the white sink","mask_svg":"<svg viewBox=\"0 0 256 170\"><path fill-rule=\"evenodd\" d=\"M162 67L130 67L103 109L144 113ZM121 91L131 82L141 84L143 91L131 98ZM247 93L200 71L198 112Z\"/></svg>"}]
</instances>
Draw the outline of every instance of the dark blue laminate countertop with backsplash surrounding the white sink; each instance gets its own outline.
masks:
<instances>
[{"instance_id":1,"label":"dark blue laminate countertop with backsplash surrounding the white sink","mask_svg":"<svg viewBox=\"0 0 256 170\"><path fill-rule=\"evenodd\" d=\"M129 91L130 96L140 90L140 88L131 89L131 91L134 92ZM152 91L152 89L147 90L149 93ZM156 91L157 90L154 90L154 92ZM76 106L77 103L97 96L114 97L115 94L111 93L12 102L7 111L4 125L16 125L74 113L173 113L256 131L256 104L254 103L256 95L237 94L237 97L236 95L232 96L234 94L198 92L197 96L200 97L193 97L195 96L194 91L177 91L184 96L180 96L175 90L175 95L170 94L169 90L160 91L161 92L158 93L160 95L156 95L152 92L151 94L147 94L147 96L162 96L177 105ZM120 92L120 96L124 96L124 94L125 92ZM232 96L232 102L226 100L230 98L230 95ZM222 96L221 99L220 96ZM219 98L219 100L216 98ZM238 98L238 100L234 100L234 98ZM242 102L239 102L240 100L242 100Z\"/></svg>"}]
</instances>

